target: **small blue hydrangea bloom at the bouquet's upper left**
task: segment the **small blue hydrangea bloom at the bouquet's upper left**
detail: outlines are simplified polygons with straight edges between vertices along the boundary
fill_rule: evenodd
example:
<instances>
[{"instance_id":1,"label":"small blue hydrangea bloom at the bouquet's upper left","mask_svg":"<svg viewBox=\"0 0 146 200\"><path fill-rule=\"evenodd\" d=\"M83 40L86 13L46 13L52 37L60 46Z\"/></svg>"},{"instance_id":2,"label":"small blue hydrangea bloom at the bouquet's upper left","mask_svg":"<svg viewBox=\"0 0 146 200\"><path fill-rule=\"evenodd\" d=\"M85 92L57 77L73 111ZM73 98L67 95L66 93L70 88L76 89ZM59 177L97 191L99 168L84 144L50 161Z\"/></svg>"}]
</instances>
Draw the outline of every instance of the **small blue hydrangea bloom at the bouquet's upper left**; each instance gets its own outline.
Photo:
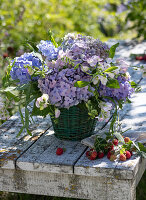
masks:
<instances>
[{"instance_id":1,"label":"small blue hydrangea bloom at the bouquet's upper left","mask_svg":"<svg viewBox=\"0 0 146 200\"><path fill-rule=\"evenodd\" d=\"M47 57L48 60L56 60L58 56L58 48L55 48L53 43L51 41L44 41L41 40L40 43L37 45L37 48L39 51L42 52L42 54Z\"/></svg>"}]
</instances>

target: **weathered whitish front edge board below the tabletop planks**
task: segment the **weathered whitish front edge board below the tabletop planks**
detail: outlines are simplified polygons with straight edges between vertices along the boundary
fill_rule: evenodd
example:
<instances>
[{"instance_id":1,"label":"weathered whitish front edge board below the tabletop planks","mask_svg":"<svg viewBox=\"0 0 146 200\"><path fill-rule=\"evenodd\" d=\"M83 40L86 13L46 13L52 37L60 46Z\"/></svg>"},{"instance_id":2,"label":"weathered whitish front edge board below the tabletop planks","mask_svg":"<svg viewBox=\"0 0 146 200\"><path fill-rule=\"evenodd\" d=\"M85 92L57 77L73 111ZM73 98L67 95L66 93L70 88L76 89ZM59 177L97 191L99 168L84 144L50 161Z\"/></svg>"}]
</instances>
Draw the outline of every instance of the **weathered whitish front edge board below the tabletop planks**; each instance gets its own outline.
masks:
<instances>
[{"instance_id":1,"label":"weathered whitish front edge board below the tabletop planks","mask_svg":"<svg viewBox=\"0 0 146 200\"><path fill-rule=\"evenodd\" d=\"M95 200L135 200L135 181L0 169L0 190Z\"/></svg>"}]
</instances>

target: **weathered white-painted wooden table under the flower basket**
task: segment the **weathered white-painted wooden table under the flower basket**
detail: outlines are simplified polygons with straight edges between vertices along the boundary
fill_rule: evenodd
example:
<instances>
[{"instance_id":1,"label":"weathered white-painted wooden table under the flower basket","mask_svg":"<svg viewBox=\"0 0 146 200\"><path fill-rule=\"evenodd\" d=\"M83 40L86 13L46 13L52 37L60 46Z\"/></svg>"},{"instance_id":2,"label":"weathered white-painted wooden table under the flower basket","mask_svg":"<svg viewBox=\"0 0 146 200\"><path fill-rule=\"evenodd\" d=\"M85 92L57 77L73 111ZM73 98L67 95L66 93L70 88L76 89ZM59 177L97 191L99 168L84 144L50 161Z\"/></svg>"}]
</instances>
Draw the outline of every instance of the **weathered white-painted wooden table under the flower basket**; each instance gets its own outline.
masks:
<instances>
[{"instance_id":1,"label":"weathered white-painted wooden table under the flower basket","mask_svg":"<svg viewBox=\"0 0 146 200\"><path fill-rule=\"evenodd\" d=\"M125 128L132 128L129 136L140 139L146 132L146 78L139 71L129 70L140 82L142 92L132 97L132 104L125 106L120 117ZM35 118L30 127L32 137L24 132L16 138L21 127L18 114L0 127L0 191L96 200L135 199L145 159L132 156L125 162L111 162L105 156L90 161L85 156L86 146L54 137L49 116ZM96 131L102 127L98 124ZM61 156L56 155L58 147L66 149Z\"/></svg>"}]
</instances>

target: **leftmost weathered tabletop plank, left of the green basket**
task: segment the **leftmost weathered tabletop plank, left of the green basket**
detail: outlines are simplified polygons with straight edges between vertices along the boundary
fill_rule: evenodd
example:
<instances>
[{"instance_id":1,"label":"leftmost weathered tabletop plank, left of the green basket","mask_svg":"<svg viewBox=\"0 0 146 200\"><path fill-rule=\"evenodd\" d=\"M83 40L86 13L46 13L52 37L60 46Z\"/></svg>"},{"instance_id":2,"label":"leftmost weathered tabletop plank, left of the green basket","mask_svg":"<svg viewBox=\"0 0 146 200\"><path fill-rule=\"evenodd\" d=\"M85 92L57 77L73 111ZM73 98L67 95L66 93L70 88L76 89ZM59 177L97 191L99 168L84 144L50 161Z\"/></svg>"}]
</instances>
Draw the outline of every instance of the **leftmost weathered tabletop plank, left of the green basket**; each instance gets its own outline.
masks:
<instances>
[{"instance_id":1,"label":"leftmost weathered tabletop plank, left of the green basket","mask_svg":"<svg viewBox=\"0 0 146 200\"><path fill-rule=\"evenodd\" d=\"M45 120L38 116L35 124L30 126L32 136L25 131L16 137L22 127L20 115L17 113L0 127L0 167L15 168L15 160L51 126L50 117Z\"/></svg>"}]
</instances>

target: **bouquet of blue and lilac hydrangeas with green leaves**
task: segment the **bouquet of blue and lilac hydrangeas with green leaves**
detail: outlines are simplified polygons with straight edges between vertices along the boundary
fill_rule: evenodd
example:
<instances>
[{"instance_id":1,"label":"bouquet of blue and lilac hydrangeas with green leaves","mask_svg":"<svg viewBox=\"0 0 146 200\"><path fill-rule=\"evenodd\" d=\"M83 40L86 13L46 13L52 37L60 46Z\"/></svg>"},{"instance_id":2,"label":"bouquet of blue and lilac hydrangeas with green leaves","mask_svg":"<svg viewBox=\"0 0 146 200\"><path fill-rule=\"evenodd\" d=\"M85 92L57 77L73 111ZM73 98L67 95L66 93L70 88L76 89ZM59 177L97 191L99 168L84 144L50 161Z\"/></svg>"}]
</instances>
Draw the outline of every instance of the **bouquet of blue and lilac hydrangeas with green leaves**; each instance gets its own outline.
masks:
<instances>
[{"instance_id":1,"label":"bouquet of blue and lilac hydrangeas with green leaves","mask_svg":"<svg viewBox=\"0 0 146 200\"><path fill-rule=\"evenodd\" d=\"M117 110L129 102L136 86L125 61L113 60L117 46L109 48L98 39L71 33L58 46L50 35L49 41L36 46L38 52L14 58L3 79L3 91L19 104L23 123L19 134L24 128L31 134L29 117L50 114L57 123L62 110L73 106L86 108L91 119L111 117L113 131Z\"/></svg>"}]
</instances>

